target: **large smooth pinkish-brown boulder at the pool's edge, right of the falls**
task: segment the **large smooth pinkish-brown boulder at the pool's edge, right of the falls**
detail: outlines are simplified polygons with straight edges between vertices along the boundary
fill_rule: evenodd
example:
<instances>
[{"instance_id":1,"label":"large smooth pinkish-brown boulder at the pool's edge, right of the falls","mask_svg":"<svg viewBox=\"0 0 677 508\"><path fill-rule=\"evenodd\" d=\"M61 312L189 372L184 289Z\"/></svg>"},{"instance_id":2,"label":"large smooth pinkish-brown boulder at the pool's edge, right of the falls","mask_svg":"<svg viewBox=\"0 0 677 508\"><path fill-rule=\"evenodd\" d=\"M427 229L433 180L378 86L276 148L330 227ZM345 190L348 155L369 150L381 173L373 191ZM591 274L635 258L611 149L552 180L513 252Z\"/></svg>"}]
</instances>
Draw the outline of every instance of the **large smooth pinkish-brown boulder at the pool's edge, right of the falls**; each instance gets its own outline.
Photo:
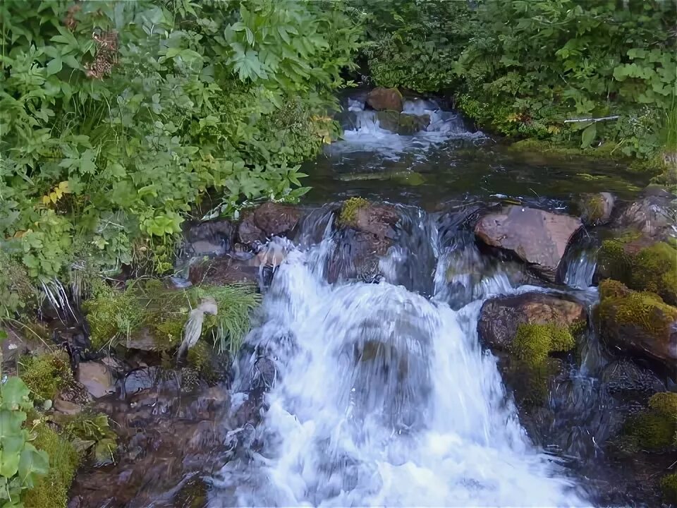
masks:
<instances>
[{"instance_id":1,"label":"large smooth pinkish-brown boulder at the pool's edge, right of the falls","mask_svg":"<svg viewBox=\"0 0 677 508\"><path fill-rule=\"evenodd\" d=\"M564 252L582 226L580 219L568 215L509 206L482 217L475 225L475 236L489 246L508 250L539 276L557 282Z\"/></svg>"}]
</instances>

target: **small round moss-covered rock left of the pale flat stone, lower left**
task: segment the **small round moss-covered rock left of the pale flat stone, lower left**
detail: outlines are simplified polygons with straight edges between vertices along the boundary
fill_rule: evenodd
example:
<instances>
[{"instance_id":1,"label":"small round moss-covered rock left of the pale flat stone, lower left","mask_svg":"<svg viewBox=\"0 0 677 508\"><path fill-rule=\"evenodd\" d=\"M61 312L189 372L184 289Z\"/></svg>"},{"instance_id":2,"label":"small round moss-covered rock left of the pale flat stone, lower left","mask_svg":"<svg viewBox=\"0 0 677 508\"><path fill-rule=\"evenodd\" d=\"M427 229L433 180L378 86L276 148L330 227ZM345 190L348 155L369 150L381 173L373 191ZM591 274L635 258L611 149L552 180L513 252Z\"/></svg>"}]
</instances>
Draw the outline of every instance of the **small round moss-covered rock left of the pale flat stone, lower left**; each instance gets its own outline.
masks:
<instances>
[{"instance_id":1,"label":"small round moss-covered rock left of the pale flat stone, lower left","mask_svg":"<svg viewBox=\"0 0 677 508\"><path fill-rule=\"evenodd\" d=\"M54 400L62 389L75 384L70 358L62 349L23 356L19 365L19 375L37 402Z\"/></svg>"}]
</instances>

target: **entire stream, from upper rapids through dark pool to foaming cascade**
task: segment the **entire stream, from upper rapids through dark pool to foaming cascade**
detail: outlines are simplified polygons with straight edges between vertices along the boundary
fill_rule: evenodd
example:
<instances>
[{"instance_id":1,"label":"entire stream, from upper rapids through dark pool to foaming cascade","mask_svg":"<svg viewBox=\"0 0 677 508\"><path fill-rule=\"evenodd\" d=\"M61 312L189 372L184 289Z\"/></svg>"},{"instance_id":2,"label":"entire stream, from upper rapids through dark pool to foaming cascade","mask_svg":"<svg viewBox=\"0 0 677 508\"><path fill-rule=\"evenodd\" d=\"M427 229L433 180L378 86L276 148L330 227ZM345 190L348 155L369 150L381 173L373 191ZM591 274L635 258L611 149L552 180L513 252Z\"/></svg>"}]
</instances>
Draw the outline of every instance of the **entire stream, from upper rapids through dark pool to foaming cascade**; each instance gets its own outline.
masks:
<instances>
[{"instance_id":1,"label":"entire stream, from upper rapids through dark pool to foaming cascade","mask_svg":"<svg viewBox=\"0 0 677 508\"><path fill-rule=\"evenodd\" d=\"M600 382L611 358L594 329L547 410L527 418L477 333L491 296L566 295L590 310L597 234L567 251L556 285L484 255L467 227L490 205L567 212L576 193L631 199L647 182L612 162L513 152L430 100L405 103L430 116L413 135L382 128L359 97L345 105L344 139L306 164L305 217L269 243L281 262L261 272L255 327L209 415L216 437L195 435L183 460L206 492L171 501L153 473L128 506L652 506L616 492L633 472L600 447L618 402ZM341 249L334 203L352 196L398 213L377 277L354 277Z\"/></svg>"}]
</instances>

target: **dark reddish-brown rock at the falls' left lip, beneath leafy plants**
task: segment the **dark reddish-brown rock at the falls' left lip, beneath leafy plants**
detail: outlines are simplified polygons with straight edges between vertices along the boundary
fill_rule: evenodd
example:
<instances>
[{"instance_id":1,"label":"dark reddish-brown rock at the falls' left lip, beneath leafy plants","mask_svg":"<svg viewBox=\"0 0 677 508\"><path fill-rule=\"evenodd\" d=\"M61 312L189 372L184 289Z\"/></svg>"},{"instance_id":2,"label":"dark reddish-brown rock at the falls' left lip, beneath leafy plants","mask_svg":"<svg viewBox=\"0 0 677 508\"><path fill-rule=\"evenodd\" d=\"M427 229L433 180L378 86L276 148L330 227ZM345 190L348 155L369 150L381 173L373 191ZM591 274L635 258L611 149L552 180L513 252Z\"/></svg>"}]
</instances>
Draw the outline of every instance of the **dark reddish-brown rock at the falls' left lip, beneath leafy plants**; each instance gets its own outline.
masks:
<instances>
[{"instance_id":1,"label":"dark reddish-brown rock at the falls' left lip, beneath leafy plants","mask_svg":"<svg viewBox=\"0 0 677 508\"><path fill-rule=\"evenodd\" d=\"M241 243L265 241L272 236L290 233L301 218L301 211L288 205L267 202L253 212L245 212L238 227Z\"/></svg>"}]
</instances>

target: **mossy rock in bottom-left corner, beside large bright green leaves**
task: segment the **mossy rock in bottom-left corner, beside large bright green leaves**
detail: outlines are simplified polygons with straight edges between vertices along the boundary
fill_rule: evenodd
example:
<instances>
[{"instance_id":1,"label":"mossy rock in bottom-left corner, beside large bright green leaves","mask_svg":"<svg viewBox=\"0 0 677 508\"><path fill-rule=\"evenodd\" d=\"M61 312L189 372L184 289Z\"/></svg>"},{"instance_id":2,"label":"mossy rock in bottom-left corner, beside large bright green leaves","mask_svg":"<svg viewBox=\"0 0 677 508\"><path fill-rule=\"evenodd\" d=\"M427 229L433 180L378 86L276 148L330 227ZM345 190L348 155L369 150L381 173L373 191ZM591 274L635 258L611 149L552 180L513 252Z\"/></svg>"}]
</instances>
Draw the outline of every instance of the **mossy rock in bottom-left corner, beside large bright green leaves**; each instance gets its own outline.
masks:
<instances>
[{"instance_id":1,"label":"mossy rock in bottom-left corner, beside large bright green leaves","mask_svg":"<svg viewBox=\"0 0 677 508\"><path fill-rule=\"evenodd\" d=\"M49 473L23 497L24 508L66 508L68 490L78 469L78 452L73 444L47 425L34 430L33 446L49 454Z\"/></svg>"}]
</instances>

